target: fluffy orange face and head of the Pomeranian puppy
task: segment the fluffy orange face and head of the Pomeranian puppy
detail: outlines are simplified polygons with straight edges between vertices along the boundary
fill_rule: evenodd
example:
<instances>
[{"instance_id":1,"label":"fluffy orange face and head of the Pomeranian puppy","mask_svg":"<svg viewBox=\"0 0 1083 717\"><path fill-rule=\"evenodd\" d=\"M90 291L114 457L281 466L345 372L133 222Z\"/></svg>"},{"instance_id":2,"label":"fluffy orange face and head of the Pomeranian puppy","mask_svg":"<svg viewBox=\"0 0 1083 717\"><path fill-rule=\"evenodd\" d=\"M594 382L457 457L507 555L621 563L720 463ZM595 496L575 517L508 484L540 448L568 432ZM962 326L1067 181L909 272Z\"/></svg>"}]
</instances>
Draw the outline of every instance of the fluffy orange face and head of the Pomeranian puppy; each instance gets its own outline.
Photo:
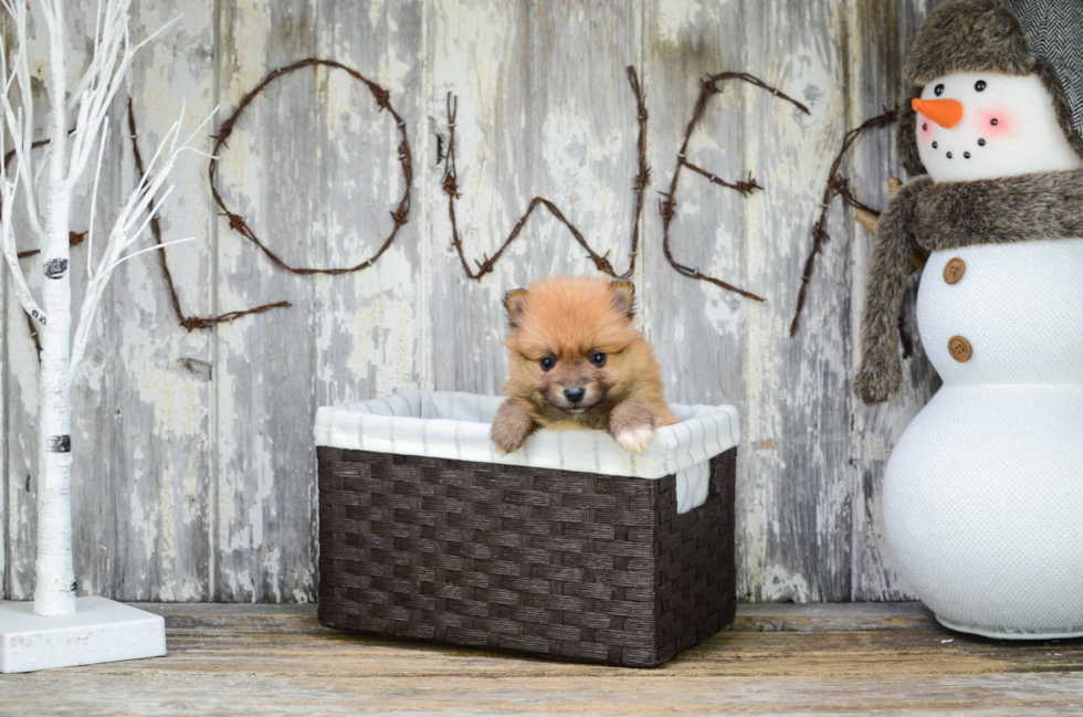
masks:
<instances>
[{"instance_id":1,"label":"fluffy orange face and head of the Pomeranian puppy","mask_svg":"<svg viewBox=\"0 0 1083 717\"><path fill-rule=\"evenodd\" d=\"M642 336L632 327L631 283L553 277L504 299L512 331L508 394L582 417L630 376L629 348Z\"/></svg>"}]
</instances>

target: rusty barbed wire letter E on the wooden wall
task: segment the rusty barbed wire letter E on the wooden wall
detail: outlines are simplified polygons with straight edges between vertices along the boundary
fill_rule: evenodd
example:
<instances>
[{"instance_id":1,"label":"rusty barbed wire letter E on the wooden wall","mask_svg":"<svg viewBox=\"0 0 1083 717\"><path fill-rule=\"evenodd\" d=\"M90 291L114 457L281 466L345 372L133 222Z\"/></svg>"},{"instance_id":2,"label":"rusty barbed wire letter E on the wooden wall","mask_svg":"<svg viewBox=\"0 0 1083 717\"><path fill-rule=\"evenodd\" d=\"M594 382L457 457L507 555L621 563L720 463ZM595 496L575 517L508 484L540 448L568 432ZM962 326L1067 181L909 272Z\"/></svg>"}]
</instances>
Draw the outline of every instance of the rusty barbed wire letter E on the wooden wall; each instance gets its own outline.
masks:
<instances>
[{"instance_id":1,"label":"rusty barbed wire letter E on the wooden wall","mask_svg":"<svg viewBox=\"0 0 1083 717\"><path fill-rule=\"evenodd\" d=\"M692 139L692 133L695 131L696 126L700 124L700 119L703 117L703 113L706 110L711 97L722 92L722 89L718 87L718 83L727 80L739 80L740 82L747 82L750 85L760 87L761 89L766 89L770 92L774 96L778 97L779 99L785 99L786 102L789 102L790 104L795 105L798 109L800 109L805 114L809 114L808 107L806 107L798 101L793 99L789 95L779 92L775 87L771 87L759 77L748 74L747 72L721 72L716 75L711 75L705 81L703 81L700 86L700 96L696 99L695 110L692 113L692 119L688 122L688 128L684 133L684 141L681 144L680 151L677 151L676 167L673 170L673 178L670 180L670 191L667 193L660 192L664 198L663 200L659 200L659 213L662 215L662 251L665 253L665 259L666 261L670 262L670 266L676 270L679 274L683 276L687 276L688 278L709 282L711 284L724 288L727 292L735 292L746 298L750 298L756 302L764 302L767 299L765 299L761 296L757 296L751 292L734 286L733 284L724 282L715 276L709 276L707 274L704 274L700 270L693 268L692 266L681 264L673 257L673 251L670 249L670 224L673 222L673 218L676 215L676 203L677 203L676 190L677 190L677 181L681 178L682 168L687 167L691 171L694 171L697 175L706 177L711 181L711 183L719 184L727 189L736 190L740 192L742 196L748 196L751 192L756 191L757 189L763 189L763 187L760 187L753 178L751 173L748 175L748 179L746 180L729 182L716 177L715 175L707 171L706 169L703 169L702 167L693 165L692 162L688 161L685 155L685 152L688 149L688 141Z\"/></svg>"}]
</instances>

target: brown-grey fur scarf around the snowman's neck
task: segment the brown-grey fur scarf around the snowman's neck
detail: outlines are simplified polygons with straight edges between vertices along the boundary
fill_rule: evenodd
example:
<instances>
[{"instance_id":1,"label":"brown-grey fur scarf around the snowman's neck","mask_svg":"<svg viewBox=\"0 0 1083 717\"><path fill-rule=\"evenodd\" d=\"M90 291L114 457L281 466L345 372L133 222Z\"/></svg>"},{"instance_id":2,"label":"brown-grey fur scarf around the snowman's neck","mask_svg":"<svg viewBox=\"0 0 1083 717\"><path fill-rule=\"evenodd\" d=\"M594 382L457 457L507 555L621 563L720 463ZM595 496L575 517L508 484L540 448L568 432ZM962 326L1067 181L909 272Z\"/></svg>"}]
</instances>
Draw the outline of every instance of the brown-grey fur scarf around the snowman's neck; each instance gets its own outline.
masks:
<instances>
[{"instance_id":1,"label":"brown-grey fur scarf around the snowman's neck","mask_svg":"<svg viewBox=\"0 0 1083 717\"><path fill-rule=\"evenodd\" d=\"M940 183L922 176L907 182L876 225L861 323L861 369L854 377L858 398L880 403L902 387L897 326L913 272L913 246L932 253L1075 238L1083 238L1083 171Z\"/></svg>"}]
</instances>

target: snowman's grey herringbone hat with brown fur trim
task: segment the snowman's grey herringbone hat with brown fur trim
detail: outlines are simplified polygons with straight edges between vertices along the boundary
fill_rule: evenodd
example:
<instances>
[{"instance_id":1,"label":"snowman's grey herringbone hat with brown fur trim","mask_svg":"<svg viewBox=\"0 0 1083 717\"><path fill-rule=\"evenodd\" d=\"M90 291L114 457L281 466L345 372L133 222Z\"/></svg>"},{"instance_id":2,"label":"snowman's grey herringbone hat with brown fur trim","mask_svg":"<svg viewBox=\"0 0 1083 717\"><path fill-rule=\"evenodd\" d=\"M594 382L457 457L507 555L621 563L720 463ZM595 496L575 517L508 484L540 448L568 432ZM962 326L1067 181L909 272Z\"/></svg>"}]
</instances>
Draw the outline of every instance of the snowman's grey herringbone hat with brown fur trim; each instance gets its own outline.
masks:
<instances>
[{"instance_id":1,"label":"snowman's grey herringbone hat with brown fur trim","mask_svg":"<svg viewBox=\"0 0 1083 717\"><path fill-rule=\"evenodd\" d=\"M898 126L903 167L925 173L909 101L937 77L957 72L1037 74L1053 97L1064 136L1083 157L1081 0L948 0L925 20L903 74L911 94Z\"/></svg>"}]
</instances>

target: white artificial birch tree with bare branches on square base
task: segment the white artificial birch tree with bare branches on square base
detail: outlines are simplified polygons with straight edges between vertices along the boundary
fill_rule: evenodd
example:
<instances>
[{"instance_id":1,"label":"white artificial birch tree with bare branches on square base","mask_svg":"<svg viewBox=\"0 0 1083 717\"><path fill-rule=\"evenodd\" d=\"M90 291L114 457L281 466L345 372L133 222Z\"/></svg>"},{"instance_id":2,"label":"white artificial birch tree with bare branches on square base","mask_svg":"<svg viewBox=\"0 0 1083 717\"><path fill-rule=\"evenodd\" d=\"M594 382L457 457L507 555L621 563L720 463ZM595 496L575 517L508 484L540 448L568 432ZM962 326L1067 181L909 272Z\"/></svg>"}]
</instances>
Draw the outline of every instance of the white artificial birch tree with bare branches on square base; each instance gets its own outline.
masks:
<instances>
[{"instance_id":1,"label":"white artificial birch tree with bare branches on square base","mask_svg":"<svg viewBox=\"0 0 1083 717\"><path fill-rule=\"evenodd\" d=\"M108 145L107 112L124 84L135 53L169 24L133 44L128 32L130 0L98 0L93 54L71 89L67 87L67 38L64 0L36 0L35 20L49 43L45 87L49 97L49 145L40 159L34 141L34 98L28 51L30 10L27 0L0 0L15 46L0 35L0 158L9 148L10 167L0 168L0 246L12 277L13 295L30 315L41 340L39 383L38 556L34 563L33 611L28 604L0 605L0 672L90 664L165 654L165 628L151 615L101 598L75 598L72 565L72 381L86 350L98 305L116 267L154 249L128 252L144 234L170 189L161 193L178 156L198 151L189 143L203 124L180 140L181 117L166 133L144 177L122 204L95 261L94 204ZM74 124L72 123L74 115ZM199 152L203 154L203 152ZM71 229L76 184L96 156L87 240L87 288L72 336ZM2 165L2 162L0 162ZM24 208L32 236L41 249L43 273L35 299L18 261L13 214ZM188 241L188 240L179 240ZM172 244L177 242L169 242ZM166 244L166 245L168 245ZM77 450L77 446L76 446ZM57 630L71 628L66 635ZM45 635L43 631L49 631Z\"/></svg>"}]
</instances>

